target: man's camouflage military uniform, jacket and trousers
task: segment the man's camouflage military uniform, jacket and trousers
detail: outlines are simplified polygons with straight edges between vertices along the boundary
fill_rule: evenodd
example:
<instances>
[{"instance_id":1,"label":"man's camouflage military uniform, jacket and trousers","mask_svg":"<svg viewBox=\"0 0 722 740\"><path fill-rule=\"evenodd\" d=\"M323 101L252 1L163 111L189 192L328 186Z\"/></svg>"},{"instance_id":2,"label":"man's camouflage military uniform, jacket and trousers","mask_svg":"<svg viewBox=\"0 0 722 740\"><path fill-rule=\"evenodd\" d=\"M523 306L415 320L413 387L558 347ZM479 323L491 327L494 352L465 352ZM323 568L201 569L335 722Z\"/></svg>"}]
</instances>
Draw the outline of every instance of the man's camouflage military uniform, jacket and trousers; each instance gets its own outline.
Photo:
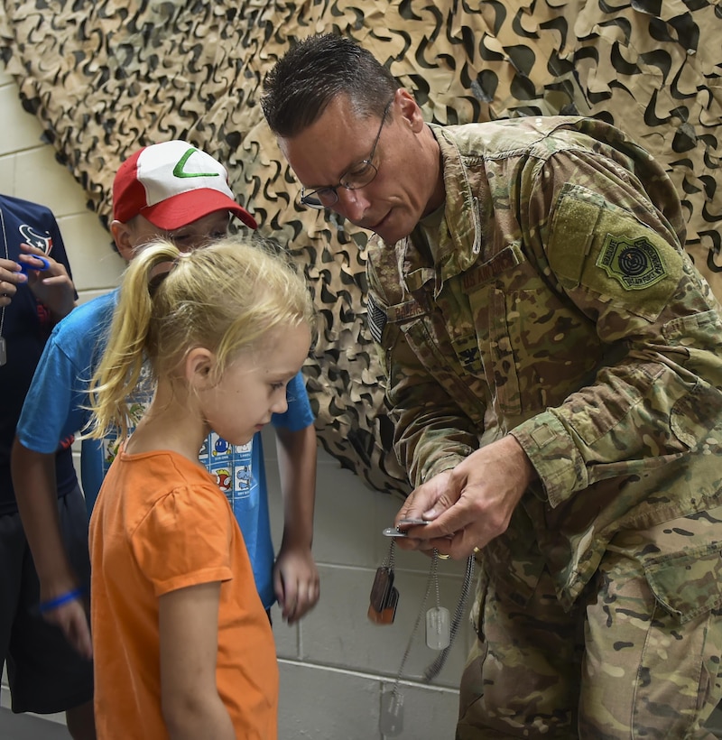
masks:
<instances>
[{"instance_id":1,"label":"man's camouflage military uniform, jacket and trousers","mask_svg":"<svg viewBox=\"0 0 722 740\"><path fill-rule=\"evenodd\" d=\"M458 738L706 737L722 697L722 319L676 192L615 128L432 126L446 203L370 246L419 485L511 433L539 481L484 550Z\"/></svg>"}]
</instances>

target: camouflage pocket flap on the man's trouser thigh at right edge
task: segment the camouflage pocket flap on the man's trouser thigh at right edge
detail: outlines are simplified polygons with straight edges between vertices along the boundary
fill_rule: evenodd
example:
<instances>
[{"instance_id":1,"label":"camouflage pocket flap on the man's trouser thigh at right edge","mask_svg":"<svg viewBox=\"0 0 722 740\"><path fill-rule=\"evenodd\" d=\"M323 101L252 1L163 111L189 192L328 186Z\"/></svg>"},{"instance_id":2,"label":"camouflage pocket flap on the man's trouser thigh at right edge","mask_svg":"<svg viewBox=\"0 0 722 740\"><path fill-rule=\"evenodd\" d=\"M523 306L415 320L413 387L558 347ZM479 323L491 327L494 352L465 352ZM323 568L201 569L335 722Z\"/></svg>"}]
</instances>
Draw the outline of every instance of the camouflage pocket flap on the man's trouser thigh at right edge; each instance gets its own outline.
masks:
<instances>
[{"instance_id":1,"label":"camouflage pocket flap on the man's trouser thigh at right edge","mask_svg":"<svg viewBox=\"0 0 722 740\"><path fill-rule=\"evenodd\" d=\"M722 606L722 543L649 560L644 565L654 597L680 624Z\"/></svg>"}]
</instances>

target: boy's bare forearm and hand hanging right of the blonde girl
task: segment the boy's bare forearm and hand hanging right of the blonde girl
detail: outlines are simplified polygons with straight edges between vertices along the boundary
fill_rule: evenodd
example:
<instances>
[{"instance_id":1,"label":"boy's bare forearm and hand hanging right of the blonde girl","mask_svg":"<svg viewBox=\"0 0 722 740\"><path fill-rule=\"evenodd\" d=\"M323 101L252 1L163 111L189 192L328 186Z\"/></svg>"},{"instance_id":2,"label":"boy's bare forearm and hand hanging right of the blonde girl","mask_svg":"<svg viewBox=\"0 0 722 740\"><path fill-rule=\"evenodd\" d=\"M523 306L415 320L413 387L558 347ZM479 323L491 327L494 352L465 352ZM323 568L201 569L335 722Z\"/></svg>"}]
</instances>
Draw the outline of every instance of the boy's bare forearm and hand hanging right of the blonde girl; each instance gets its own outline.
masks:
<instances>
[{"instance_id":1,"label":"boy's bare forearm and hand hanging right of the blonde girl","mask_svg":"<svg viewBox=\"0 0 722 740\"><path fill-rule=\"evenodd\" d=\"M276 427L283 496L283 539L273 585L283 618L301 619L319 600L319 571L311 554L316 499L316 431Z\"/></svg>"}]
</instances>

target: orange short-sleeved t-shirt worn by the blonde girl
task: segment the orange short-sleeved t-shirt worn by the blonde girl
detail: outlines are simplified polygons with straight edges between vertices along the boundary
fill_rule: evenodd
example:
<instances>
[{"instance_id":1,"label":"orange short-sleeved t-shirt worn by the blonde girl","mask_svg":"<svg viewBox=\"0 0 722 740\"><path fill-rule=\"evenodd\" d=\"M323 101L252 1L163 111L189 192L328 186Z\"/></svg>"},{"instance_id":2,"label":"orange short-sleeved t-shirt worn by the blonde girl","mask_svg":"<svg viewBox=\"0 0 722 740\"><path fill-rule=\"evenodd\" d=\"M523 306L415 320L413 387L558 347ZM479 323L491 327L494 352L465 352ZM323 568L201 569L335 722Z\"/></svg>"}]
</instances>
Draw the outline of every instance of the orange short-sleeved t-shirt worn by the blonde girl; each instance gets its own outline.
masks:
<instances>
[{"instance_id":1,"label":"orange short-sleeved t-shirt worn by the blonde girl","mask_svg":"<svg viewBox=\"0 0 722 740\"><path fill-rule=\"evenodd\" d=\"M121 452L90 520L97 736L168 737L161 712L158 597L222 581L216 682L245 740L277 736L273 632L243 536L215 481L170 451Z\"/></svg>"}]
</instances>

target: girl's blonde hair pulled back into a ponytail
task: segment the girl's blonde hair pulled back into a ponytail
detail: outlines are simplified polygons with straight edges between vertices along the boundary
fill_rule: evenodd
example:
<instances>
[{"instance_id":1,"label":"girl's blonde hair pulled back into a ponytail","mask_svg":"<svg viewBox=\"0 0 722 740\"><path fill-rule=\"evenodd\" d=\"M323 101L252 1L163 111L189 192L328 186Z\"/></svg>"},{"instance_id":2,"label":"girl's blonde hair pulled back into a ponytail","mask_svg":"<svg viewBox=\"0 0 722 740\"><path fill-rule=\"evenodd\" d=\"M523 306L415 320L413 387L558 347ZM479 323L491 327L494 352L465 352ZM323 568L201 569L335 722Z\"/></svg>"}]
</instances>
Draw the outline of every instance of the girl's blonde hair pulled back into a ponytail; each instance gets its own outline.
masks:
<instances>
[{"instance_id":1,"label":"girl's blonde hair pulled back into a ponytail","mask_svg":"<svg viewBox=\"0 0 722 740\"><path fill-rule=\"evenodd\" d=\"M105 353L90 383L87 436L129 427L126 399L143 363L153 379L175 377L193 347L216 356L222 375L238 352L253 351L273 327L314 330L308 288L277 245L227 236L181 254L166 240L143 247L125 270Z\"/></svg>"}]
</instances>

